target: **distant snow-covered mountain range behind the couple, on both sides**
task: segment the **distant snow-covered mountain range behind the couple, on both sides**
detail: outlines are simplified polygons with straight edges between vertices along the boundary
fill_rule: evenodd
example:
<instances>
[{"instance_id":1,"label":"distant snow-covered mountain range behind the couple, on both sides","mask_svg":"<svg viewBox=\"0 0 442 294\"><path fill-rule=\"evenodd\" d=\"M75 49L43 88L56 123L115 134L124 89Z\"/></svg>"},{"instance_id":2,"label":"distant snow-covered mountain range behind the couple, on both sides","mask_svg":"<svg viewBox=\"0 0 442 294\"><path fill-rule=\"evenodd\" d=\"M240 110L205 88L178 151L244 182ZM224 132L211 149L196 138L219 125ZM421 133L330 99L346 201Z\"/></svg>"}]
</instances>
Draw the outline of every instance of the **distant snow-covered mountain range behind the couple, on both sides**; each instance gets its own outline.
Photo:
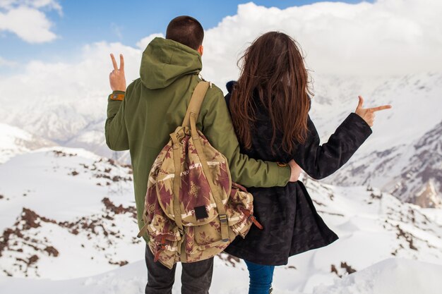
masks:
<instances>
[{"instance_id":1,"label":"distant snow-covered mountain range behind the couple, on both sides","mask_svg":"<svg viewBox=\"0 0 442 294\"><path fill-rule=\"evenodd\" d=\"M359 94L365 98L366 106L393 105L393 109L376 114L374 134L349 164L326 179L326 183L373 185L401 200L424 207L439 206L442 73L396 77L313 73L313 78L316 95L311 118L323 141L356 109ZM224 90L224 85L220 87ZM91 92L75 101L65 100L43 97L35 104L10 105L3 109L0 122L16 125L59 145L85 148L129 163L127 152L112 152L104 144L106 93ZM424 199L420 195L425 195Z\"/></svg>"}]
</instances>

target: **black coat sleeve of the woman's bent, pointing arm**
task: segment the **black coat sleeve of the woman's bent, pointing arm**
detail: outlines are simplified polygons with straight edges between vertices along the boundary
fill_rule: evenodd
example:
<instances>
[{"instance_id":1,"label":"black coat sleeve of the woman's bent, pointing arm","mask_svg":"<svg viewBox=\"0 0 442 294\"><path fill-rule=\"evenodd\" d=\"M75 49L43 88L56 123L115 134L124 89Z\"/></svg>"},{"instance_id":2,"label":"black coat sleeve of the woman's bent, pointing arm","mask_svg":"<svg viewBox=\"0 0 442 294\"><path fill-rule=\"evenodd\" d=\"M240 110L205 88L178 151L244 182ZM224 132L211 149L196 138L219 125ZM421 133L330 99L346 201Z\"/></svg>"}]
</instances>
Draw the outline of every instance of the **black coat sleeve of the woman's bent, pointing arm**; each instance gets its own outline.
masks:
<instances>
[{"instance_id":1,"label":"black coat sleeve of the woman's bent, pointing arm","mask_svg":"<svg viewBox=\"0 0 442 294\"><path fill-rule=\"evenodd\" d=\"M298 145L293 159L315 179L325 178L338 171L372 133L370 126L352 113L330 136L328 142L319 145L319 135L310 117L307 124L309 131L306 142Z\"/></svg>"}]
</instances>

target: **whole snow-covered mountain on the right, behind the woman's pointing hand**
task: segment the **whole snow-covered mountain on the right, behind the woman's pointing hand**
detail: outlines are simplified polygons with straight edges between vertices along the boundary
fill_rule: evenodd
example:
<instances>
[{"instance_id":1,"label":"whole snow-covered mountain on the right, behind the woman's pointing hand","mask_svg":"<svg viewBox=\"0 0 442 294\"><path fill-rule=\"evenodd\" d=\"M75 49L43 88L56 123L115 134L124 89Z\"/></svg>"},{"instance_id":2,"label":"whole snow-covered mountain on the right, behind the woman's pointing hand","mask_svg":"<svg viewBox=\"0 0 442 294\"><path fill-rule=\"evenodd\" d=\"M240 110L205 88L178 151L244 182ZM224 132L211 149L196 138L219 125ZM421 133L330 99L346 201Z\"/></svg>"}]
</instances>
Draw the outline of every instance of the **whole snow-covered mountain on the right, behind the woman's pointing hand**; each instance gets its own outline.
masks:
<instances>
[{"instance_id":1,"label":"whole snow-covered mountain on the right, behind the woman's pointing hand","mask_svg":"<svg viewBox=\"0 0 442 294\"><path fill-rule=\"evenodd\" d=\"M315 97L311 111L324 140L351 110L348 105L355 108L357 94L363 94L366 106L393 105L393 109L376 114L374 133L349 163L325 182L373 185L402 201L441 207L442 74L388 80L318 80L318 85L333 89L318 87L321 94ZM340 88L347 91L345 99L338 96Z\"/></svg>"}]
</instances>

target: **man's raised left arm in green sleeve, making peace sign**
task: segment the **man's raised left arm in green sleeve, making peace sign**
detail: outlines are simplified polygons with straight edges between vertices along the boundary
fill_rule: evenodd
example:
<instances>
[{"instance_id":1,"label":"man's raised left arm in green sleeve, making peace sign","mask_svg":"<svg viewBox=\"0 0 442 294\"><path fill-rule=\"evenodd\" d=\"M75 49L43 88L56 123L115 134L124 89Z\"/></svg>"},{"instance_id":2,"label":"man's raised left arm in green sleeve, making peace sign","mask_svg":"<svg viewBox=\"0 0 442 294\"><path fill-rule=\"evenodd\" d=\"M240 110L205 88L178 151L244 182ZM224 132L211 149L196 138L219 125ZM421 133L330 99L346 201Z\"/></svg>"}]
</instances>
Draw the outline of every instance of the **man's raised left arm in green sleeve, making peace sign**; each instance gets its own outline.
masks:
<instances>
[{"instance_id":1,"label":"man's raised left arm in green sleeve, making peace sign","mask_svg":"<svg viewBox=\"0 0 442 294\"><path fill-rule=\"evenodd\" d=\"M113 90L107 99L107 120L104 125L104 135L107 146L116 151L129 149L129 138L127 135L126 121L124 120L124 109L127 93L126 78L124 77L124 59L120 54L120 68L117 66L114 55L111 54L114 71L109 74L109 82ZM129 90L129 89L128 89Z\"/></svg>"}]
</instances>

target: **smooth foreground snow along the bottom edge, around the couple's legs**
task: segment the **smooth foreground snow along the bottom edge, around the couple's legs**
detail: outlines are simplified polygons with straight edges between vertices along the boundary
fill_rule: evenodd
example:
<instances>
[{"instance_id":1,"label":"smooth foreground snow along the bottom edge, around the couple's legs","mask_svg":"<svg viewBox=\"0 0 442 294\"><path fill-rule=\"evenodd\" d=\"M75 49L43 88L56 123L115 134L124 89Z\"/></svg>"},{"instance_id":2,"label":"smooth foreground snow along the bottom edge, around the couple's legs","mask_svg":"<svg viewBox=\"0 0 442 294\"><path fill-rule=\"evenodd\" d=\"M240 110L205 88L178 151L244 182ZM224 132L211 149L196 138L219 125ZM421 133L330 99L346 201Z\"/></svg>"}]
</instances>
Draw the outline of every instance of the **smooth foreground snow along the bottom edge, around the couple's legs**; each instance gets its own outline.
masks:
<instances>
[{"instance_id":1,"label":"smooth foreground snow along the bottom edge, around the couple's legs","mask_svg":"<svg viewBox=\"0 0 442 294\"><path fill-rule=\"evenodd\" d=\"M180 274L181 267L178 266L172 290L174 294L181 293ZM276 269L275 276L284 279L285 287L280 288L278 285L275 290L281 294L438 294L442 287L441 275L441 265L390 258L342 279L334 277L332 281L316 280L318 286L310 292L294 290L298 285L292 281L293 272ZM144 292L146 279L145 264L136 262L97 276L64 281L0 277L0 288L8 294L138 294ZM210 293L246 293L247 283L246 271L225 267L222 261L215 259Z\"/></svg>"}]
</instances>

